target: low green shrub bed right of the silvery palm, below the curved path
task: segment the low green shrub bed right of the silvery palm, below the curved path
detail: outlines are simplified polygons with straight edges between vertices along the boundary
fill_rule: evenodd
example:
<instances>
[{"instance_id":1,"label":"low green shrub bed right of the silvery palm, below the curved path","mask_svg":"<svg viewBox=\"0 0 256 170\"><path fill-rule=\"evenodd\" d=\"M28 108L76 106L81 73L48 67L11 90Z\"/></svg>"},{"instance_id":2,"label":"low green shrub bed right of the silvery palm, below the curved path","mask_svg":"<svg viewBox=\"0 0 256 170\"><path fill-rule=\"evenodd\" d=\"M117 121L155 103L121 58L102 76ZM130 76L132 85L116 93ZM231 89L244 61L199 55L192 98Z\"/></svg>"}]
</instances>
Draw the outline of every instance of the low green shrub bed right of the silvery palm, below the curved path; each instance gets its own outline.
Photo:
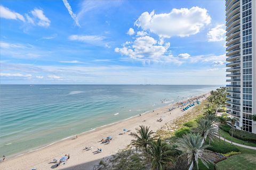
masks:
<instances>
[{"instance_id":1,"label":"low green shrub bed right of the silvery palm, below the curved path","mask_svg":"<svg viewBox=\"0 0 256 170\"><path fill-rule=\"evenodd\" d=\"M228 152L231 151L235 151L238 152L239 149L234 146L231 145L230 143L226 142L224 143L224 141L219 141L219 139L215 139L212 143L211 143L211 147L207 148L213 152L218 152L220 154L227 154Z\"/></svg>"}]
</instances>

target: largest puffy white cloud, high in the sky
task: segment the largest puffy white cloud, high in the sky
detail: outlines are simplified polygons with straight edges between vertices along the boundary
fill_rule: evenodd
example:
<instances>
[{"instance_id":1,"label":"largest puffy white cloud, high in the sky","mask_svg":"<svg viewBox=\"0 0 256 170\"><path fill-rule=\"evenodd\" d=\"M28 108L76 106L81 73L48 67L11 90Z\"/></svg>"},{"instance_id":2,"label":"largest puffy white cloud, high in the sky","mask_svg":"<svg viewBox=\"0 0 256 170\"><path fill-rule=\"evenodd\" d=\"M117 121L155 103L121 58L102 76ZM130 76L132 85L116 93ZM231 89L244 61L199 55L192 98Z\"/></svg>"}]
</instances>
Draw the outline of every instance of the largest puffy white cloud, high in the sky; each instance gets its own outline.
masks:
<instances>
[{"instance_id":1,"label":"largest puffy white cloud, high in the sky","mask_svg":"<svg viewBox=\"0 0 256 170\"><path fill-rule=\"evenodd\" d=\"M170 38L194 35L210 23L211 17L207 10L196 6L190 9L174 8L170 13L144 12L134 24L143 30L156 33L160 37Z\"/></svg>"}]
</instances>

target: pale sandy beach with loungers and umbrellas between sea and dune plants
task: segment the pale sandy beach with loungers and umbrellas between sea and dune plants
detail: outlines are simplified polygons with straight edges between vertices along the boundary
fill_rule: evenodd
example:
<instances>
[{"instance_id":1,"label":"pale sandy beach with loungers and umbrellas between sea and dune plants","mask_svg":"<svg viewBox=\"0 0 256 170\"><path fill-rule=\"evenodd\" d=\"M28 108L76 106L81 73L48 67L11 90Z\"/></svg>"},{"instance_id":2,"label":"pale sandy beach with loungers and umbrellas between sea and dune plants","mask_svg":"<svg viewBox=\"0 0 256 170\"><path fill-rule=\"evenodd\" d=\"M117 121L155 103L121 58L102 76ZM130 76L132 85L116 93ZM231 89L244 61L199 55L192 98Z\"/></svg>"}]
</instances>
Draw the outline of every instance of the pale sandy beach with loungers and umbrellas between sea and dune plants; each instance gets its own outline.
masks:
<instances>
[{"instance_id":1,"label":"pale sandy beach with loungers and umbrellas between sea and dune plants","mask_svg":"<svg viewBox=\"0 0 256 170\"><path fill-rule=\"evenodd\" d=\"M207 96L207 95L206 95ZM204 100L205 97L200 98ZM129 120L120 121L111 125L97 128L91 132L78 134L78 138L69 138L54 143L43 149L39 149L27 154L6 159L0 163L0 169L93 169L98 165L102 158L110 157L116 154L119 149L125 148L130 144L132 139L130 132L124 133L123 129L135 132L135 128L139 125L150 126L150 129L156 131L167 122L179 118L187 111L183 112L180 108L176 108L169 112L169 108L177 107L178 104L167 105L161 107L154 112L148 112L141 116L135 116ZM193 108L190 108L193 109ZM157 122L162 118L162 122ZM100 141L111 135L113 140L109 144L103 144ZM93 147L86 151L85 147ZM93 153L101 148L103 151L99 154ZM53 159L60 159L65 154L70 155L70 159L60 166L56 167L56 163L52 163Z\"/></svg>"}]
</instances>

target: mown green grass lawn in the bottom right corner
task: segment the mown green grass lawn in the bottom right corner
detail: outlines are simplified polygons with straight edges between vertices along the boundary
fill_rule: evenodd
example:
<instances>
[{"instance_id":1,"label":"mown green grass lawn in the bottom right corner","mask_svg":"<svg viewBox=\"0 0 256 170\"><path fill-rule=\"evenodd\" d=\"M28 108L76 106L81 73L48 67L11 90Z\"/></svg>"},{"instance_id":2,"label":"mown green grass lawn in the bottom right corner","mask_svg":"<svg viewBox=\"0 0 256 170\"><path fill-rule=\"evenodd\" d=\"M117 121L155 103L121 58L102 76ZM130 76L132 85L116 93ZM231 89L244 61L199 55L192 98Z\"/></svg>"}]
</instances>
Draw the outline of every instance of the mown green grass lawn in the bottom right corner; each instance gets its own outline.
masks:
<instances>
[{"instance_id":1,"label":"mown green grass lawn in the bottom right corner","mask_svg":"<svg viewBox=\"0 0 256 170\"><path fill-rule=\"evenodd\" d=\"M254 170L256 167L255 154L234 155L217 164L218 170Z\"/></svg>"}]
</instances>

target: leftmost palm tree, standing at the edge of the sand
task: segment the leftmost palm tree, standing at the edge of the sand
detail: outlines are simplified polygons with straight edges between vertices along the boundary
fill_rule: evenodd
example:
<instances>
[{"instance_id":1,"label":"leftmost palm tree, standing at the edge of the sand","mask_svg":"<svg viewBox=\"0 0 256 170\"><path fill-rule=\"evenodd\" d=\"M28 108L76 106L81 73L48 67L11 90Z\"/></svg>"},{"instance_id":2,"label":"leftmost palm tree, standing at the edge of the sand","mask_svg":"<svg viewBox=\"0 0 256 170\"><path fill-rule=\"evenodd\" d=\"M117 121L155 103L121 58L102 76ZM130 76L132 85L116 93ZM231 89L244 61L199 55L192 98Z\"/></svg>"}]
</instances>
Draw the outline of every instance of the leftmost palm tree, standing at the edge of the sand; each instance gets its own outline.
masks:
<instances>
[{"instance_id":1,"label":"leftmost palm tree, standing at the edge of the sand","mask_svg":"<svg viewBox=\"0 0 256 170\"><path fill-rule=\"evenodd\" d=\"M148 145L153 141L153 131L149 131L148 126L140 125L140 129L135 129L137 133L132 133L132 136L135 140L131 140L132 146L138 150L138 148L143 149L145 151L146 157L148 157Z\"/></svg>"}]
</instances>

